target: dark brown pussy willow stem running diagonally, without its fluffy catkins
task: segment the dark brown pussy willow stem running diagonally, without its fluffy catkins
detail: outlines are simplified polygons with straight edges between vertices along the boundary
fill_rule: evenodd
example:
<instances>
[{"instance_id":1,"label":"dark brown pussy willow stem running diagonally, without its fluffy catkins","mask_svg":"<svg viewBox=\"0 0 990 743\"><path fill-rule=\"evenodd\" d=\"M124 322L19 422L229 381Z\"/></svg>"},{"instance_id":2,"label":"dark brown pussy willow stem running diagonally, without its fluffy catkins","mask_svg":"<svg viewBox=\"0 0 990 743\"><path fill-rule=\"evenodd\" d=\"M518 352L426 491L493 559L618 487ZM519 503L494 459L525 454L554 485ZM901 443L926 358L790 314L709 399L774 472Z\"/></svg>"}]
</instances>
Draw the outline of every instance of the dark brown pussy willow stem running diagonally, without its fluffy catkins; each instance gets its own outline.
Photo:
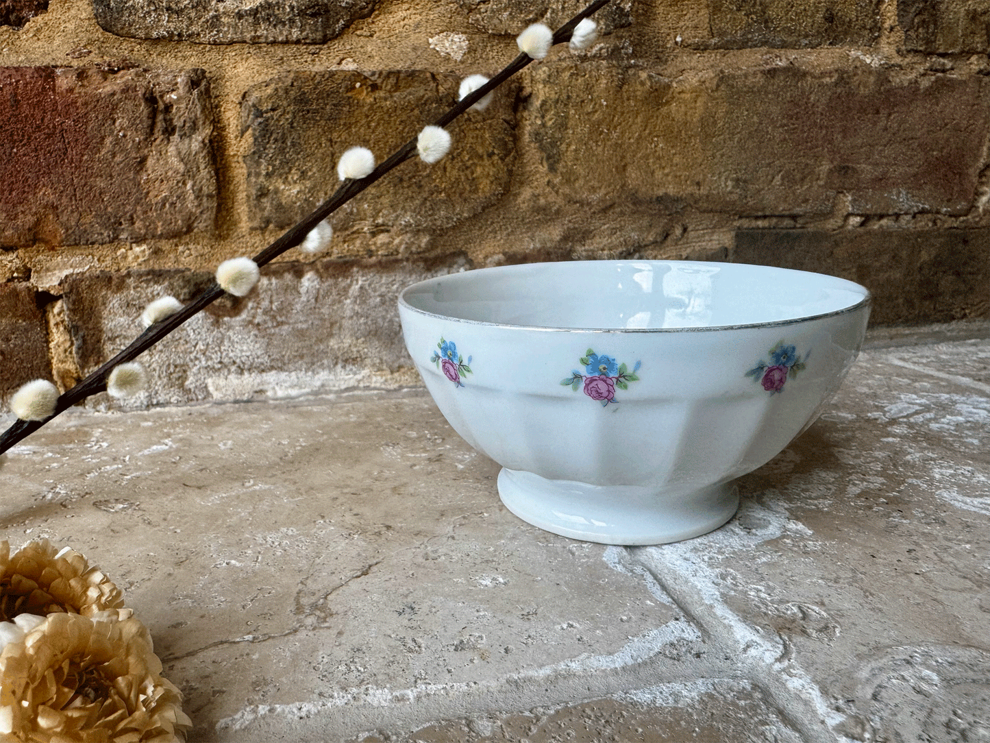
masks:
<instances>
[{"instance_id":1,"label":"dark brown pussy willow stem running diagonally, without its fluffy catkins","mask_svg":"<svg viewBox=\"0 0 990 743\"><path fill-rule=\"evenodd\" d=\"M574 27L576 27L577 24L583 19L596 13L605 5L608 5L609 2L611 2L611 0L595 0L595 2L591 3L587 8L567 21L567 23L553 32L553 44L557 45L570 41L570 37L574 33ZM529 54L520 53L519 56L513 59L505 69L492 77L488 82L479 87L477 90L465 95L460 101L451 107L446 114L437 119L437 121L434 122L434 126L446 127L447 124L467 111L471 106L484 98L489 92L497 88L532 61L533 57ZM286 251L298 246L323 220L344 206L344 204L350 201L350 199L374 183L389 170L402 164L407 159L412 158L416 152L417 138L414 137L403 145L390 158L382 160L368 175L365 175L363 178L348 179L344 181L334 195L320 204L320 206L318 206L311 214L304 217L302 220L286 230L285 233L283 233L282 236L274 243L258 253L253 259L254 263L258 266L266 265L275 258L281 256ZM67 389L60 394L58 396L58 401L55 404L55 411L48 418L41 421L15 421L10 428L4 431L3 434L0 434L0 454L6 452L25 437L30 436L56 415L72 407L72 405L81 402L90 395L106 390L107 374L109 374L114 367L124 364L125 362L134 361L141 356L141 354L148 351L151 346L178 328L190 317L199 314L199 312L222 297L225 293L226 292L220 287L220 285L214 281L212 286L203 291L202 294L193 299L191 302L183 306L181 310L148 327L144 333L134 339L131 345L117 354L117 356L96 371L92 371L71 389Z\"/></svg>"}]
</instances>

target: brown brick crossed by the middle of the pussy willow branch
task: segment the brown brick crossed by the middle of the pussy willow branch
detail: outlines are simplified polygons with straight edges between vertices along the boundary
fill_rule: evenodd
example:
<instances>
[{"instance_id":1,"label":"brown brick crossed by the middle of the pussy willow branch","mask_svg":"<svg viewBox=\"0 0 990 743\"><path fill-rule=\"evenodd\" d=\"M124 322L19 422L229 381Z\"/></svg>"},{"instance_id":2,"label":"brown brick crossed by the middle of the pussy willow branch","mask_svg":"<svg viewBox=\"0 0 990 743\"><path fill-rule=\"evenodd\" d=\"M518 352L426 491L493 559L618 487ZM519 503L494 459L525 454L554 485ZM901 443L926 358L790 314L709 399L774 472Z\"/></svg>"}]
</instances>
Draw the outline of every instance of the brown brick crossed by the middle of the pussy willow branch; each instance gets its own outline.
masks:
<instances>
[{"instance_id":1,"label":"brown brick crossed by the middle of the pussy willow branch","mask_svg":"<svg viewBox=\"0 0 990 743\"><path fill-rule=\"evenodd\" d=\"M248 212L254 227L293 224L333 193L337 160L353 146L379 161L456 101L459 78L424 71L295 72L250 88L242 105L251 141ZM428 165L416 158L349 202L333 217L338 235L450 227L495 203L508 187L515 146L514 88L483 114L447 129L453 145ZM395 250L384 246L383 251Z\"/></svg>"}]
</instances>

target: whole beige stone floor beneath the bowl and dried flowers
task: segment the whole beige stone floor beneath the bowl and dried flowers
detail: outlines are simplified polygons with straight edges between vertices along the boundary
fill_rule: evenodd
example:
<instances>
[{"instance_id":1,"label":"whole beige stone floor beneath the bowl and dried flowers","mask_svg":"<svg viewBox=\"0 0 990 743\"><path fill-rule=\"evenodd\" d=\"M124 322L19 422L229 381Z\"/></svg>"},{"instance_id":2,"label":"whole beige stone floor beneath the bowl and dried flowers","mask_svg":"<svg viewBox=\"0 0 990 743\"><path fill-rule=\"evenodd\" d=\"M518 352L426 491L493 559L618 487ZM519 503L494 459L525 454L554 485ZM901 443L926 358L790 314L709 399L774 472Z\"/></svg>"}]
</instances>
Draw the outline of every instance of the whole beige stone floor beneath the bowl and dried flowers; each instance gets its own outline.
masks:
<instances>
[{"instance_id":1,"label":"whole beige stone floor beneath the bowl and dried flowers","mask_svg":"<svg viewBox=\"0 0 990 743\"><path fill-rule=\"evenodd\" d=\"M519 521L420 390L66 414L0 519L124 588L194 741L986 743L988 339L874 332L680 544Z\"/></svg>"}]
</instances>

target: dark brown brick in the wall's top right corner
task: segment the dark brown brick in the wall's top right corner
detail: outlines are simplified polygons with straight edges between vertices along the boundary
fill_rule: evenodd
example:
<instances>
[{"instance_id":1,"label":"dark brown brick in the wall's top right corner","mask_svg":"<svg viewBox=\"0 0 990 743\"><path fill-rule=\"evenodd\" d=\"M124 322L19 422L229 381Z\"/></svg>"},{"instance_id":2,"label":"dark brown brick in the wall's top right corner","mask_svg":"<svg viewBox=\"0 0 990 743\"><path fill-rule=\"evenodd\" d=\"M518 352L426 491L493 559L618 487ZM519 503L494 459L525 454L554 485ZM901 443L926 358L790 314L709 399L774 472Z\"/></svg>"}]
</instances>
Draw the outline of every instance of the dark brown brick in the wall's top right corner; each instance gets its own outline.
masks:
<instances>
[{"instance_id":1,"label":"dark brown brick in the wall's top right corner","mask_svg":"<svg viewBox=\"0 0 990 743\"><path fill-rule=\"evenodd\" d=\"M907 49L927 53L990 52L985 0L898 0L897 22Z\"/></svg>"}]
</instances>

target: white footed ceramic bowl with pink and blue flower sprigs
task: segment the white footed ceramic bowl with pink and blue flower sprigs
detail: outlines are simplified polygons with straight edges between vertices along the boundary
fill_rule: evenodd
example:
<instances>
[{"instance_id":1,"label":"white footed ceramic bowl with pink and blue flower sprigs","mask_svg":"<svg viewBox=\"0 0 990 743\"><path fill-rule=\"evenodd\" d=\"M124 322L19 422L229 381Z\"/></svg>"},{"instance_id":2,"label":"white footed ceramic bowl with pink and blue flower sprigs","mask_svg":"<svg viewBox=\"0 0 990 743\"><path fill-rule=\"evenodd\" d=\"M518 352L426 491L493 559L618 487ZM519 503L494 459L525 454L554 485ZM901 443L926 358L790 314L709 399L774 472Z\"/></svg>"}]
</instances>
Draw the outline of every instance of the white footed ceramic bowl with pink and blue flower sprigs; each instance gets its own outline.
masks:
<instances>
[{"instance_id":1,"label":"white footed ceramic bowl with pink and blue flower sprigs","mask_svg":"<svg viewBox=\"0 0 990 743\"><path fill-rule=\"evenodd\" d=\"M422 281L399 314L447 421L502 465L513 513L642 545L732 518L733 479L839 388L869 292L759 265L588 261Z\"/></svg>"}]
</instances>

